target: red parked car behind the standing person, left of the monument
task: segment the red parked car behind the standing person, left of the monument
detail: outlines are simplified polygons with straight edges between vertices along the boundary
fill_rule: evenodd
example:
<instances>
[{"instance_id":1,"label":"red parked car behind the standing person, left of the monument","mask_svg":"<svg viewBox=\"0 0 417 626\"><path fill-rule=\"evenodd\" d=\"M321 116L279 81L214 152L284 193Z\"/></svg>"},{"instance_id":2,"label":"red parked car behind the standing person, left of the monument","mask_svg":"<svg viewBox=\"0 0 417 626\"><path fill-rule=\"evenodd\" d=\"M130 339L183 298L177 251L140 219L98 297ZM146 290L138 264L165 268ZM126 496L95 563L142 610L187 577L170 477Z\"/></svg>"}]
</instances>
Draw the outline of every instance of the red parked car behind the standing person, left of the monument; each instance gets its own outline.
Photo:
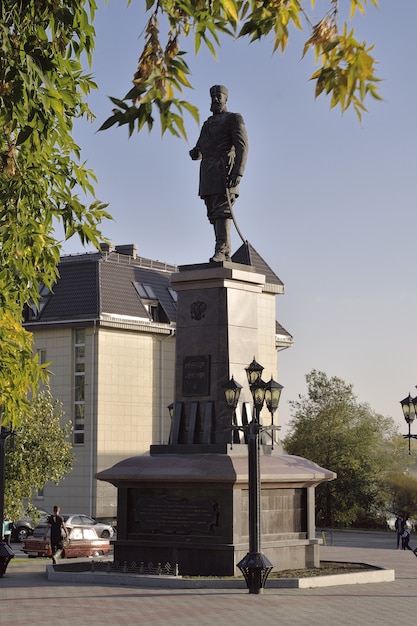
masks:
<instances>
[{"instance_id":1,"label":"red parked car behind the standing person, left of the monument","mask_svg":"<svg viewBox=\"0 0 417 626\"><path fill-rule=\"evenodd\" d=\"M68 539L63 541L62 558L73 559L78 556L102 556L110 552L109 539L102 539L94 528L74 526L69 528ZM46 537L45 537L46 532ZM50 529L45 525L37 526L33 534L22 546L23 552L29 557L52 557Z\"/></svg>"}]
</instances>

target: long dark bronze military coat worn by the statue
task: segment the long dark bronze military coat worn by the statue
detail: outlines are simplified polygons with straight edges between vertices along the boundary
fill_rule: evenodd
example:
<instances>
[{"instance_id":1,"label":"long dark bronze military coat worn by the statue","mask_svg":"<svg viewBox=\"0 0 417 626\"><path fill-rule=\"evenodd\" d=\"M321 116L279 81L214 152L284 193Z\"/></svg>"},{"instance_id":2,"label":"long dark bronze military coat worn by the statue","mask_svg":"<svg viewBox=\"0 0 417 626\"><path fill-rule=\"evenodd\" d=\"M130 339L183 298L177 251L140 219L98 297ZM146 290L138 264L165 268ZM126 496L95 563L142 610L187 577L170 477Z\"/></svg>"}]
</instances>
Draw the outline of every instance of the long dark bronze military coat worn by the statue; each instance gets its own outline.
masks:
<instances>
[{"instance_id":1,"label":"long dark bronze military coat worn by the statue","mask_svg":"<svg viewBox=\"0 0 417 626\"><path fill-rule=\"evenodd\" d=\"M204 122L195 146L201 155L199 195L224 193L226 181L243 176L248 136L240 113L218 113ZM239 195L238 187L230 192Z\"/></svg>"}]
</instances>

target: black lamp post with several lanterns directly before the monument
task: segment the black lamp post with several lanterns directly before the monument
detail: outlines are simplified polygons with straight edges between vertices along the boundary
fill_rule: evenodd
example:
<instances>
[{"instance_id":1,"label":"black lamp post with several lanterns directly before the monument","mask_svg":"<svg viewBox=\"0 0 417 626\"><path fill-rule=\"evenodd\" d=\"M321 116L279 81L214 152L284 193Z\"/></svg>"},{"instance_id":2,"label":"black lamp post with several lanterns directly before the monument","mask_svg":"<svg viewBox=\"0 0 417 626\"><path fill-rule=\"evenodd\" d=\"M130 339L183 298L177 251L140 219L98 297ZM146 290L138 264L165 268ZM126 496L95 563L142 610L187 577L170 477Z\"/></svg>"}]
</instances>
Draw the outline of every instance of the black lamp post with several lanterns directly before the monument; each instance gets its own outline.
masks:
<instances>
[{"instance_id":1,"label":"black lamp post with several lanterns directly before the monument","mask_svg":"<svg viewBox=\"0 0 417 626\"><path fill-rule=\"evenodd\" d=\"M271 430L271 447L274 447L274 430L277 430L278 427L273 424L273 416L278 408L283 387L272 378L269 383L265 383L261 379L262 371L263 367L255 359L246 368L246 375L253 399L252 420L249 424L238 426L235 423L235 411L238 406L242 385L239 385L233 379L233 376L224 385L226 403L232 411L232 429L243 431L248 443L249 552L237 566L245 577L249 593L263 592L267 578L273 568L271 561L261 552L259 435L263 431ZM269 426L261 424L260 414L264 403L266 403L271 414L271 424Z\"/></svg>"}]
</instances>

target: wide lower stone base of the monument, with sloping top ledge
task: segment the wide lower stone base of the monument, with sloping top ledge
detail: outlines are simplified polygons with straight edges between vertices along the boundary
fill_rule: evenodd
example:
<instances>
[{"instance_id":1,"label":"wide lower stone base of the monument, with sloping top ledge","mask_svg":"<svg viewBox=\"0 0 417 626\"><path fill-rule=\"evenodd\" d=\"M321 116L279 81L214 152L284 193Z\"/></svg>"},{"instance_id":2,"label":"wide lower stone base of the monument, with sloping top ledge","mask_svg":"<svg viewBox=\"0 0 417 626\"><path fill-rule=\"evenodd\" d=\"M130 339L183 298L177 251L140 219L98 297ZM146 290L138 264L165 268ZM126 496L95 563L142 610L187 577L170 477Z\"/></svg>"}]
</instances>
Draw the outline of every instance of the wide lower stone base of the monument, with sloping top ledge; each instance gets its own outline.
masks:
<instances>
[{"instance_id":1,"label":"wide lower stone base of the monument, with sloping top ledge","mask_svg":"<svg viewBox=\"0 0 417 626\"><path fill-rule=\"evenodd\" d=\"M118 488L115 561L169 563L184 576L241 574L237 563L249 543L247 446L229 445L227 453L199 448L181 446L178 454L152 446L149 455L97 474ZM275 570L317 566L314 488L334 474L262 448L262 552Z\"/></svg>"}]
</instances>

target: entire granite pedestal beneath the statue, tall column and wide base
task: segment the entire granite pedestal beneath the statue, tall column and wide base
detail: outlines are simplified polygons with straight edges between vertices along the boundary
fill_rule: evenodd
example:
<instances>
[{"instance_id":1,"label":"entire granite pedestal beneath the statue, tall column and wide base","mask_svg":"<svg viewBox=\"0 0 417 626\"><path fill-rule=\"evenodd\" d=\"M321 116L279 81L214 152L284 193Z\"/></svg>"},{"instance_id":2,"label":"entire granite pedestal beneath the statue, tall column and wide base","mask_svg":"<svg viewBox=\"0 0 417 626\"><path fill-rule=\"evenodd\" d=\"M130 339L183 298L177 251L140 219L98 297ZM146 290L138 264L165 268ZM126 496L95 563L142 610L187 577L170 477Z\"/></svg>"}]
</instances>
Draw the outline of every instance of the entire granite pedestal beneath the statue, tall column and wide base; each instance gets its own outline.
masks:
<instances>
[{"instance_id":1,"label":"entire granite pedestal beneath the statue, tall column and wide base","mask_svg":"<svg viewBox=\"0 0 417 626\"><path fill-rule=\"evenodd\" d=\"M232 445L223 385L232 375L246 383L236 414L242 424L251 419L245 367L255 356L277 378L275 296L283 286L266 274L225 262L172 276L178 316L169 443L97 475L118 489L116 561L169 563L182 575L240 573L249 542L248 450L243 437ZM260 452L262 551L275 569L318 565L314 489L335 475L283 454L271 437Z\"/></svg>"}]
</instances>

